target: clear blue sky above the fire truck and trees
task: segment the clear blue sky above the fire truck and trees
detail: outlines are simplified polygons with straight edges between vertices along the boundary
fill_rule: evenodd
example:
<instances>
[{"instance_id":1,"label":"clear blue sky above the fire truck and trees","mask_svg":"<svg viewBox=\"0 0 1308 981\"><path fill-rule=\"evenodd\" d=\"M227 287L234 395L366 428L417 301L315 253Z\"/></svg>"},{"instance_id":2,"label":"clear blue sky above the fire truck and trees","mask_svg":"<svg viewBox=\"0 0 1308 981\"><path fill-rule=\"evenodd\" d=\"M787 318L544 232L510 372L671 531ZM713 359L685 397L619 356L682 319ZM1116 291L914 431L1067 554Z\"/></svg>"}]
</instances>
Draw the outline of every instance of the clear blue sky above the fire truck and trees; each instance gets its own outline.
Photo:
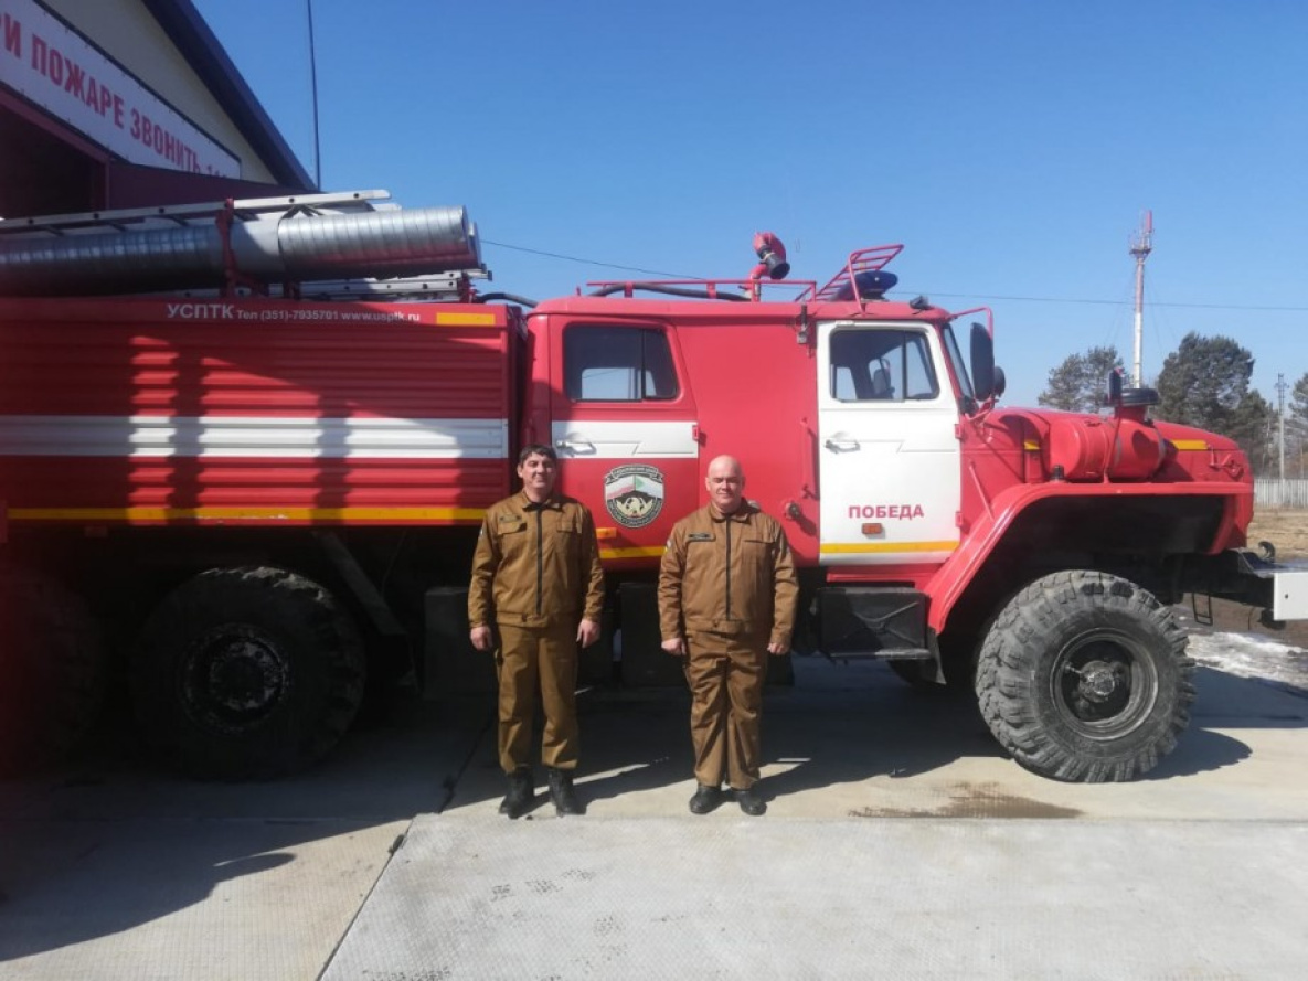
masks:
<instances>
[{"instance_id":1,"label":"clear blue sky above the fire truck and trees","mask_svg":"<svg viewBox=\"0 0 1308 981\"><path fill-rule=\"evenodd\" d=\"M1130 364L1152 209L1146 381L1192 330L1273 404L1308 371L1300 0L313 0L317 162L305 0L194 3L324 190L466 205L493 289L903 242L901 294L991 306L1033 404L1069 354Z\"/></svg>"}]
</instances>

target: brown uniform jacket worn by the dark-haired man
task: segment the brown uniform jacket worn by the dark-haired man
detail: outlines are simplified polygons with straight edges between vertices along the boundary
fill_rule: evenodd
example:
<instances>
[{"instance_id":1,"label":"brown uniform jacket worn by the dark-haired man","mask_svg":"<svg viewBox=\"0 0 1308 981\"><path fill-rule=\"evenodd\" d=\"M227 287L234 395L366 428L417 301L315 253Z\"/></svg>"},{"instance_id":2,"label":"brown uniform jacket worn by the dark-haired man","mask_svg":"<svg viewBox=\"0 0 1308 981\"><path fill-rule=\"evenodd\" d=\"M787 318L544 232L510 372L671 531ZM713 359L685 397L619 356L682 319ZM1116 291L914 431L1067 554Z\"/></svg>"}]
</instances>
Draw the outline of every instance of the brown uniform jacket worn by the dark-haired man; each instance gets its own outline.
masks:
<instances>
[{"instance_id":1,"label":"brown uniform jacket worn by the dark-haired man","mask_svg":"<svg viewBox=\"0 0 1308 981\"><path fill-rule=\"evenodd\" d=\"M572 497L535 505L522 492L490 505L472 556L468 625L599 621L604 572L590 511Z\"/></svg>"}]
</instances>

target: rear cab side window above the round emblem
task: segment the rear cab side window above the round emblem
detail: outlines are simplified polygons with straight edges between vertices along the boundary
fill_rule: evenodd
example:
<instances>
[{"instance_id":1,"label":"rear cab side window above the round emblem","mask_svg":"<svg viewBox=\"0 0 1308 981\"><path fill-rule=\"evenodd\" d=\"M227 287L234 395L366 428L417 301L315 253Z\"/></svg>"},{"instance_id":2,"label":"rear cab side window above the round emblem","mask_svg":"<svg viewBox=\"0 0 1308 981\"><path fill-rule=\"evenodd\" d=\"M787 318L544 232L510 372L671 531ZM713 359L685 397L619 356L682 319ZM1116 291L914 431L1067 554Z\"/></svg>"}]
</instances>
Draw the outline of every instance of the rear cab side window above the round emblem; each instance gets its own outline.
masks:
<instances>
[{"instance_id":1,"label":"rear cab side window above the round emblem","mask_svg":"<svg viewBox=\"0 0 1308 981\"><path fill-rule=\"evenodd\" d=\"M662 402L680 394L667 335L658 327L568 327L564 378L573 402Z\"/></svg>"}]
</instances>

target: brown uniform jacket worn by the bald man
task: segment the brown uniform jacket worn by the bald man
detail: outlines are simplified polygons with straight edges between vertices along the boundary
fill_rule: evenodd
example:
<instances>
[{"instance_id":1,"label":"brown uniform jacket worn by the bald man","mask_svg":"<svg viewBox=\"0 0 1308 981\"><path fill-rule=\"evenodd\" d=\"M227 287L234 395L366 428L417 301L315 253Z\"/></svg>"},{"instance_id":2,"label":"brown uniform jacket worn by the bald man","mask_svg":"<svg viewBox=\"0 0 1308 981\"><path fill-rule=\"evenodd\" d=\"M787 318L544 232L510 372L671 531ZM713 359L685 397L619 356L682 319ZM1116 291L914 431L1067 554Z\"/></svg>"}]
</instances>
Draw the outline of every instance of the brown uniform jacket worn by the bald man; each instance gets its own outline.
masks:
<instances>
[{"instance_id":1,"label":"brown uniform jacket worn by the bald man","mask_svg":"<svg viewBox=\"0 0 1308 981\"><path fill-rule=\"evenodd\" d=\"M672 526L658 577L664 641L713 630L789 646L798 600L786 532L748 501L729 517L708 505Z\"/></svg>"}]
</instances>

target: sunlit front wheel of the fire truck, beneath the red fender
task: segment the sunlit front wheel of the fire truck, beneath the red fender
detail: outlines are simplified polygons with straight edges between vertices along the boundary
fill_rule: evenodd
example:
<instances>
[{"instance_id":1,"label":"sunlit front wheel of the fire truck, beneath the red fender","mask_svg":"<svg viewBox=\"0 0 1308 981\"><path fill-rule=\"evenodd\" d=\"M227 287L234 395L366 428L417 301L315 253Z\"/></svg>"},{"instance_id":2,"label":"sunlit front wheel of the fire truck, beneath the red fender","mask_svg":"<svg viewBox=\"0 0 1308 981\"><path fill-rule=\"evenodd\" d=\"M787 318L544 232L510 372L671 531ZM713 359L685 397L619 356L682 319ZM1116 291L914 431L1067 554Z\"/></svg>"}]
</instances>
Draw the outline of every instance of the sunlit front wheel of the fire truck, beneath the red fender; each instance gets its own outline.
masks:
<instances>
[{"instance_id":1,"label":"sunlit front wheel of the fire truck, beneath the red fender","mask_svg":"<svg viewBox=\"0 0 1308 981\"><path fill-rule=\"evenodd\" d=\"M1185 632L1151 593L1091 570L1036 579L999 612L977 663L981 714L1045 777L1133 780L1176 747L1194 701Z\"/></svg>"}]
</instances>

